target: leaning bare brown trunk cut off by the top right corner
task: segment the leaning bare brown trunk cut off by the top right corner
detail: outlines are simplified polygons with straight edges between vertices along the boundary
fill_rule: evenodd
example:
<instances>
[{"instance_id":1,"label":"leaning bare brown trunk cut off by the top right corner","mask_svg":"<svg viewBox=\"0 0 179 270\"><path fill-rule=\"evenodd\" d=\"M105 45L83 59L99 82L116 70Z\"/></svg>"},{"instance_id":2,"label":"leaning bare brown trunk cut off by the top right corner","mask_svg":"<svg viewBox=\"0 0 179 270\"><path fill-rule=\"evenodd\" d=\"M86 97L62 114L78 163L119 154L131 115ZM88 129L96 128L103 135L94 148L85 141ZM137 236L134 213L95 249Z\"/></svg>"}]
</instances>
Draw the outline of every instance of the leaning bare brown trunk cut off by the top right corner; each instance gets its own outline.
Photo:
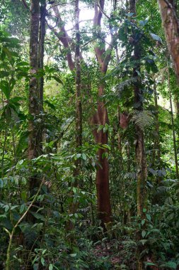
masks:
<instances>
[{"instance_id":1,"label":"leaning bare brown trunk cut off by the top right corner","mask_svg":"<svg viewBox=\"0 0 179 270\"><path fill-rule=\"evenodd\" d=\"M158 0L168 50L179 82L179 22L173 0Z\"/></svg>"}]
</instances>

